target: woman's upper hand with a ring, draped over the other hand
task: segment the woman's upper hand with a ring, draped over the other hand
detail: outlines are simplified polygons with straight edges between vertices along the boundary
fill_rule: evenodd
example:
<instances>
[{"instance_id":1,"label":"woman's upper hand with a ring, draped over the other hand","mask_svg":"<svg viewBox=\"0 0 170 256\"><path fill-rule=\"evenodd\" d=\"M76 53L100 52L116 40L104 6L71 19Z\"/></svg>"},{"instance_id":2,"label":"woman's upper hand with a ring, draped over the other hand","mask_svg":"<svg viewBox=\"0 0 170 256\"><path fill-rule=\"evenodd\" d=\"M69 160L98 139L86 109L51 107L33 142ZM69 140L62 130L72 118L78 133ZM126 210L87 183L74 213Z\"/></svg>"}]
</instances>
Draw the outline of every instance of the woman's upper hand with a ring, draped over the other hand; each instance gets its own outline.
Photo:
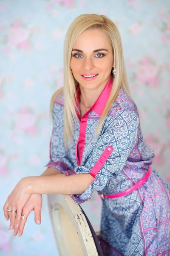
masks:
<instances>
[{"instance_id":1,"label":"woman's upper hand with a ring, draped over the other hand","mask_svg":"<svg viewBox=\"0 0 170 256\"><path fill-rule=\"evenodd\" d=\"M29 192L29 177L25 177L20 180L17 185L14 187L11 194L8 196L6 203L4 204L3 211L6 219L10 218L10 226L8 229L14 229L15 218L16 218L16 225L20 226L20 220L22 215L22 210L25 204L28 202L29 198L31 197L31 193ZM8 212L9 210L17 211L15 212Z\"/></svg>"}]
</instances>

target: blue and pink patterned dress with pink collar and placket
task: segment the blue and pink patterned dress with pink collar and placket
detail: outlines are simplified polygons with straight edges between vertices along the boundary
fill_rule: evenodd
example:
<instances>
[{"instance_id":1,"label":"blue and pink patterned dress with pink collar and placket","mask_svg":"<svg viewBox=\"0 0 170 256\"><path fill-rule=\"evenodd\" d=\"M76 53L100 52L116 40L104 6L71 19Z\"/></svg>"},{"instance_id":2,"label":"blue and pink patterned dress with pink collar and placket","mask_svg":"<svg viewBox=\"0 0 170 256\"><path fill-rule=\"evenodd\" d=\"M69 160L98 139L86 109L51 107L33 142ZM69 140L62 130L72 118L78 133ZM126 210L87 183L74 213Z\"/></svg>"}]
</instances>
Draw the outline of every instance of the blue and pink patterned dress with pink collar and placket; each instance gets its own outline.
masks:
<instances>
[{"instance_id":1,"label":"blue and pink patterned dress with pink collar and placket","mask_svg":"<svg viewBox=\"0 0 170 256\"><path fill-rule=\"evenodd\" d=\"M154 157L153 149L143 140L136 105L122 87L99 136L94 137L112 82L110 77L82 118L78 100L79 121L74 121L73 142L68 142L67 151L63 94L54 101L46 167L54 167L65 176L89 173L94 177L82 195L71 195L78 204L90 200L94 191L113 195L130 188L144 177ZM170 186L153 167L139 189L120 198L104 198L102 203L100 243L105 256L170 256Z\"/></svg>"}]
</instances>

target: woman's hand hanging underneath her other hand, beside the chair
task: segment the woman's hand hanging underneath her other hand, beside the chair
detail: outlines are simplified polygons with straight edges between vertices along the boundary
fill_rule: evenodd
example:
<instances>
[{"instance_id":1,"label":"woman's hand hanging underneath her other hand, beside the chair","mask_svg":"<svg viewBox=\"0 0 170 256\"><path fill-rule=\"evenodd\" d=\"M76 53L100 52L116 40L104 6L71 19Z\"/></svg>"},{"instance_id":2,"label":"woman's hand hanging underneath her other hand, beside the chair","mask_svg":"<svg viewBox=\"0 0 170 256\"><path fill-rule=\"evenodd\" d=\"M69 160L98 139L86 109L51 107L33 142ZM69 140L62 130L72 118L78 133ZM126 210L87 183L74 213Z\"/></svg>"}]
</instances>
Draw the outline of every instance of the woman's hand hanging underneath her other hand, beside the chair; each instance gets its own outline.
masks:
<instances>
[{"instance_id":1,"label":"woman's hand hanging underneath her other hand, beside the chair","mask_svg":"<svg viewBox=\"0 0 170 256\"><path fill-rule=\"evenodd\" d=\"M23 208L22 215L28 215L30 214L31 211L35 211L34 213L34 220L36 224L41 224L41 208L42 208L42 195L41 194L32 194L31 197L29 198L28 202ZM17 227L17 221L15 222L15 227L14 227L14 233L13 235L16 236L18 233L18 236L21 236L23 234L23 229L25 227L27 220L20 220L20 226Z\"/></svg>"}]
</instances>

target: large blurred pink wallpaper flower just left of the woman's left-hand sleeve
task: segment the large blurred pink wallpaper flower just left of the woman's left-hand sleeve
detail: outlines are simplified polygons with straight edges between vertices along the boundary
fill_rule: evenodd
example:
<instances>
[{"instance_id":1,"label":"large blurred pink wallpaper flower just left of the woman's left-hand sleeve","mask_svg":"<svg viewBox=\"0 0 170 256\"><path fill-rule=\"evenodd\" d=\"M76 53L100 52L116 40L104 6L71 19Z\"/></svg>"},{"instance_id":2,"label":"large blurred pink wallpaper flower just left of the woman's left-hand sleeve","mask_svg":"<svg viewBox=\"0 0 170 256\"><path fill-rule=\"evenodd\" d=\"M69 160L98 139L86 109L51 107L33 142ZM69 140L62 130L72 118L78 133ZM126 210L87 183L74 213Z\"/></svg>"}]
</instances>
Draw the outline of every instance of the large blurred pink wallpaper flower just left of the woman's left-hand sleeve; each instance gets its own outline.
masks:
<instances>
[{"instance_id":1,"label":"large blurred pink wallpaper flower just left of the woman's left-hand sleeve","mask_svg":"<svg viewBox=\"0 0 170 256\"><path fill-rule=\"evenodd\" d=\"M16 116L15 128L29 135L37 134L36 116L27 107L21 108Z\"/></svg>"}]
</instances>

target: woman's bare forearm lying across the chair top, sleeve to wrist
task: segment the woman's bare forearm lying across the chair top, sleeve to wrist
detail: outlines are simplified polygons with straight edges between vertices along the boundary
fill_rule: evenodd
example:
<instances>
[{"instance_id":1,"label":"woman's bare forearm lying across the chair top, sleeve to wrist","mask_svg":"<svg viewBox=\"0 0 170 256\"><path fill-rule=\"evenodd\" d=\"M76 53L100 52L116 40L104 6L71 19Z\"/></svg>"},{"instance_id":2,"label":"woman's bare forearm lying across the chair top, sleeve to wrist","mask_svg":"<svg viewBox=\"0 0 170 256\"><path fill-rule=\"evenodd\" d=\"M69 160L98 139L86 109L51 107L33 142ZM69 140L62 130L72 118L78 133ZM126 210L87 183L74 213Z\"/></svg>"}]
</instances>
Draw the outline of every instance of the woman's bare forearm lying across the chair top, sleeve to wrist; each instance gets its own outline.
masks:
<instances>
[{"instance_id":1,"label":"woman's bare forearm lying across the chair top, sleeve to wrist","mask_svg":"<svg viewBox=\"0 0 170 256\"><path fill-rule=\"evenodd\" d=\"M65 177L64 174L26 177L29 193L37 194L82 194L93 182L89 174L77 174Z\"/></svg>"}]
</instances>

